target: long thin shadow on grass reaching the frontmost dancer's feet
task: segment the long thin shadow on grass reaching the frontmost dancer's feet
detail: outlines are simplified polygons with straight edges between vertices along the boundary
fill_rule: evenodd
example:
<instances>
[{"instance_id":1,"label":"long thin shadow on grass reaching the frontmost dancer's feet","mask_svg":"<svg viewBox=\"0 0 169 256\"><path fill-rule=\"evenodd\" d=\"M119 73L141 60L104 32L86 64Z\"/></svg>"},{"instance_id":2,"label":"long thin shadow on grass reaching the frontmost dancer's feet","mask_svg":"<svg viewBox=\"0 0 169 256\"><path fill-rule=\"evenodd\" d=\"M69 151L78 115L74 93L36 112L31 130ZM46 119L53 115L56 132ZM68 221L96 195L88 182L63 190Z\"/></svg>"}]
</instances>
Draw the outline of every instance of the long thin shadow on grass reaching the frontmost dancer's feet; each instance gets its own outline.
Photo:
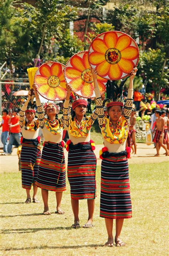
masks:
<instances>
[{"instance_id":1,"label":"long thin shadow on grass reaching the frontmost dancer's feet","mask_svg":"<svg viewBox=\"0 0 169 256\"><path fill-rule=\"evenodd\" d=\"M72 245L72 246L35 246L35 247L23 247L23 248L9 248L0 249L0 251L22 251L22 250L45 250L45 249L78 249L83 247L103 247L104 245Z\"/></svg>"}]
</instances>

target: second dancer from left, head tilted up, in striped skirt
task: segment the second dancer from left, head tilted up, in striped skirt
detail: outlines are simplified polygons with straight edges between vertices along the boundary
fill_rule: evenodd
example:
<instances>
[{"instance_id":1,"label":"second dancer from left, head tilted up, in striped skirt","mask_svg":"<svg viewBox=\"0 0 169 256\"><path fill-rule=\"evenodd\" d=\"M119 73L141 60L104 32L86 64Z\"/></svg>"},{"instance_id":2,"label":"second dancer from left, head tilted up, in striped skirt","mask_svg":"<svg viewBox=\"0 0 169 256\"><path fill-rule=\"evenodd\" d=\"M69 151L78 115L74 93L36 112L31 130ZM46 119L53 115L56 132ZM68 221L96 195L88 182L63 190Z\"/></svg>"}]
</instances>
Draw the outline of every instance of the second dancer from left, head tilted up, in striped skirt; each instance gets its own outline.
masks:
<instances>
[{"instance_id":1,"label":"second dancer from left, head tilted up, in striped skirt","mask_svg":"<svg viewBox=\"0 0 169 256\"><path fill-rule=\"evenodd\" d=\"M37 114L39 125L43 132L45 142L43 144L42 157L36 186L41 188L44 204L44 215L51 215L48 208L48 190L56 192L57 214L64 214L61 210L61 200L63 191L66 190L66 166L62 142L64 120L58 119L58 107L54 103L49 103L46 107L47 118L44 117L42 104L37 93L37 86L33 85L36 97Z\"/></svg>"}]
</instances>

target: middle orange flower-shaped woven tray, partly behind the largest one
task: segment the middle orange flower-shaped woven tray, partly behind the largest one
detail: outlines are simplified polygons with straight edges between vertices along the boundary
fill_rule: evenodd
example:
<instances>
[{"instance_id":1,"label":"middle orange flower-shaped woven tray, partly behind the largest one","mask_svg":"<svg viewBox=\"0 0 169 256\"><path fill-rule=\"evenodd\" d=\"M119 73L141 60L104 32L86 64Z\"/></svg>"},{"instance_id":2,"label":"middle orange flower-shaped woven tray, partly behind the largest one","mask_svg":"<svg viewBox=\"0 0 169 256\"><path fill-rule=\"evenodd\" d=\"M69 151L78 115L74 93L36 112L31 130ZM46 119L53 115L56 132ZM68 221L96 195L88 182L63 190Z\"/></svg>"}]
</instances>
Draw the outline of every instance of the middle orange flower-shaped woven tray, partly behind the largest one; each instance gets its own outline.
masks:
<instances>
[{"instance_id":1,"label":"middle orange flower-shaped woven tray, partly behind the largest one","mask_svg":"<svg viewBox=\"0 0 169 256\"><path fill-rule=\"evenodd\" d=\"M70 84L72 91L84 98L95 97L93 77L88 62L88 51L78 52L66 63L65 80ZM106 80L97 77L101 94L106 91Z\"/></svg>"}]
</instances>

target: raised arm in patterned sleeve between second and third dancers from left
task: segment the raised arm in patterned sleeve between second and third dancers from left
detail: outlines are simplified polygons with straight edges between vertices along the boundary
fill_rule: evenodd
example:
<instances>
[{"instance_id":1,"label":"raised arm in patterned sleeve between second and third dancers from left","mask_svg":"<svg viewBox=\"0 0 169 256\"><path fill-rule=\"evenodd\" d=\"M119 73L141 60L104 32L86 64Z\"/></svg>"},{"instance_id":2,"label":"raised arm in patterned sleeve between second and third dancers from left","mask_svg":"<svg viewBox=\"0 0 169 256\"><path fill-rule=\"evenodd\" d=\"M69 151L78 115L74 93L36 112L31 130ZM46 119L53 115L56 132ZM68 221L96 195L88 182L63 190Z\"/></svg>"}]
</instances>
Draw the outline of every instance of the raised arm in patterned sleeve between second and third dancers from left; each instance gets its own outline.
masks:
<instances>
[{"instance_id":1,"label":"raised arm in patterned sleeve between second and third dancers from left","mask_svg":"<svg viewBox=\"0 0 169 256\"><path fill-rule=\"evenodd\" d=\"M68 127L69 119L70 119L70 111L71 111L71 108L69 106L71 87L67 84L66 88L67 88L67 96L66 96L65 102L63 104L63 116L61 119L62 119L62 123Z\"/></svg>"}]
</instances>

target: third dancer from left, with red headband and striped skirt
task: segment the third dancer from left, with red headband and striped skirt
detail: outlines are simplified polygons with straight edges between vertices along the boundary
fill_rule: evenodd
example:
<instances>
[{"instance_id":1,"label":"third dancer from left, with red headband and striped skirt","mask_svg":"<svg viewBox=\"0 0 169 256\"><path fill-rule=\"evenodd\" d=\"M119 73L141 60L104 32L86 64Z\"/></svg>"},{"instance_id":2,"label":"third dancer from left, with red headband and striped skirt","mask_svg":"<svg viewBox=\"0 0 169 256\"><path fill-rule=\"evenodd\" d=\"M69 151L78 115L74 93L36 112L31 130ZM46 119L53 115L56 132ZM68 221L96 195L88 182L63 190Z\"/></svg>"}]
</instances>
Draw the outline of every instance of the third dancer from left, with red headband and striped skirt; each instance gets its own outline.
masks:
<instances>
[{"instance_id":1,"label":"third dancer from left, with red headband and striped skirt","mask_svg":"<svg viewBox=\"0 0 169 256\"><path fill-rule=\"evenodd\" d=\"M92 70L93 77L97 77ZM93 227L94 199L96 198L96 156L94 143L90 140L91 126L102 107L98 85L94 87L97 108L90 117L86 117L87 101L78 99L72 103L73 115L70 117L69 98L71 89L67 85L67 96L63 108L63 117L70 140L67 142L68 166L67 176L71 187L71 204L74 214L73 228L80 227L79 200L87 199L88 220L84 228Z\"/></svg>"}]
</instances>

